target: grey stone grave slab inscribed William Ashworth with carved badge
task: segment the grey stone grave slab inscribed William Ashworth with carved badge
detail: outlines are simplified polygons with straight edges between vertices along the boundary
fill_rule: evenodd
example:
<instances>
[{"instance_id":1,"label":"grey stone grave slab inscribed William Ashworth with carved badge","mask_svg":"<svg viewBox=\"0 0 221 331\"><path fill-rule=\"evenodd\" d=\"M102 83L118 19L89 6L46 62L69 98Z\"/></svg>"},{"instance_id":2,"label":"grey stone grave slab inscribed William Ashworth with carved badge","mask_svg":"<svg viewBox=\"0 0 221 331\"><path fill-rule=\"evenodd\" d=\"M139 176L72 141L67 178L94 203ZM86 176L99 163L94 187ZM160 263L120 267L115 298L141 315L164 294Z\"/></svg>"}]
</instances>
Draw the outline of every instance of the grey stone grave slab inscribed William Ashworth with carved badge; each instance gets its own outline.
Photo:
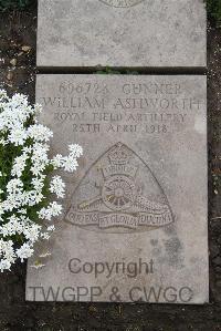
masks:
<instances>
[{"instance_id":1,"label":"grey stone grave slab inscribed William Ashworth with carved badge","mask_svg":"<svg viewBox=\"0 0 221 331\"><path fill-rule=\"evenodd\" d=\"M209 300L206 100L198 75L38 76L53 153L84 156L27 300Z\"/></svg>"}]
</instances>

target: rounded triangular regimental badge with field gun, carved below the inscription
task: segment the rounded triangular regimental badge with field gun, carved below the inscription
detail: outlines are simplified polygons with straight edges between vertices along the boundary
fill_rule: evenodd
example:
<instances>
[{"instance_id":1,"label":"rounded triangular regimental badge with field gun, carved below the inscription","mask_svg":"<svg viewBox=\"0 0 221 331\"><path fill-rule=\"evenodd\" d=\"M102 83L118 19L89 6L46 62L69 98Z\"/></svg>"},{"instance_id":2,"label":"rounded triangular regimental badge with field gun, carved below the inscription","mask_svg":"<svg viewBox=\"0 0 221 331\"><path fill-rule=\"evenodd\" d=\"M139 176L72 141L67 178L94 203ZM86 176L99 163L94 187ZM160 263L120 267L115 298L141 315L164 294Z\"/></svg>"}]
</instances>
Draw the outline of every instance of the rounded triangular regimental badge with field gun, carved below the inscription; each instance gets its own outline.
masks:
<instances>
[{"instance_id":1,"label":"rounded triangular regimental badge with field gun, carved below the inscription","mask_svg":"<svg viewBox=\"0 0 221 331\"><path fill-rule=\"evenodd\" d=\"M150 168L117 143L83 177L65 220L88 230L131 232L167 226L173 217Z\"/></svg>"}]
</instances>

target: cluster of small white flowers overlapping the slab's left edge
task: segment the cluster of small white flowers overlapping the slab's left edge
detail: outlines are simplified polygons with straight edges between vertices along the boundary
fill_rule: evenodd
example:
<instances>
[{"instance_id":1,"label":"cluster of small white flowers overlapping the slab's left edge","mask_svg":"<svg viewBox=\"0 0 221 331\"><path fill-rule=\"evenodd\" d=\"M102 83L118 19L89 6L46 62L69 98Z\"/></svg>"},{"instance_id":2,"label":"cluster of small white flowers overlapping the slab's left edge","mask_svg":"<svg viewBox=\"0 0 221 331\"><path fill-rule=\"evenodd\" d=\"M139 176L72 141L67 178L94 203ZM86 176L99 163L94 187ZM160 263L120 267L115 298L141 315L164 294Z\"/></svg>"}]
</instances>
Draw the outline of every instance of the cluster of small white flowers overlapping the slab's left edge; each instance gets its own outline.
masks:
<instances>
[{"instance_id":1,"label":"cluster of small white flowers overlapping the slab's left edge","mask_svg":"<svg viewBox=\"0 0 221 331\"><path fill-rule=\"evenodd\" d=\"M25 95L9 97L0 90L0 270L10 270L17 259L32 256L33 245L49 239L62 205L49 195L64 198L61 176L54 169L74 172L83 154L70 145L67 156L49 157L53 133L38 123L41 106L30 105Z\"/></svg>"}]
</instances>

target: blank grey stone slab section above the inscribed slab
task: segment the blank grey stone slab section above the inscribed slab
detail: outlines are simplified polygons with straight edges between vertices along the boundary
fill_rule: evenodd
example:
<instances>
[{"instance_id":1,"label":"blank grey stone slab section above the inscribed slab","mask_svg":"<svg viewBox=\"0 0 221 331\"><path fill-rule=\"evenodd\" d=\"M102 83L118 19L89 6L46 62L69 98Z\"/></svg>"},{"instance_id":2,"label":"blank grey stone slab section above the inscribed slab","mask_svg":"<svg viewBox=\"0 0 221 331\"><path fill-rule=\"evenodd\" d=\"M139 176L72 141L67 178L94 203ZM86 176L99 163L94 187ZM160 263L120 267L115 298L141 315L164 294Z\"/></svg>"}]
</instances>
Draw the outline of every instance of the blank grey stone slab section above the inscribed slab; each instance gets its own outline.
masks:
<instances>
[{"instance_id":1,"label":"blank grey stone slab section above the inscribed slab","mask_svg":"<svg viewBox=\"0 0 221 331\"><path fill-rule=\"evenodd\" d=\"M39 0L38 65L203 68L203 0Z\"/></svg>"}]
</instances>

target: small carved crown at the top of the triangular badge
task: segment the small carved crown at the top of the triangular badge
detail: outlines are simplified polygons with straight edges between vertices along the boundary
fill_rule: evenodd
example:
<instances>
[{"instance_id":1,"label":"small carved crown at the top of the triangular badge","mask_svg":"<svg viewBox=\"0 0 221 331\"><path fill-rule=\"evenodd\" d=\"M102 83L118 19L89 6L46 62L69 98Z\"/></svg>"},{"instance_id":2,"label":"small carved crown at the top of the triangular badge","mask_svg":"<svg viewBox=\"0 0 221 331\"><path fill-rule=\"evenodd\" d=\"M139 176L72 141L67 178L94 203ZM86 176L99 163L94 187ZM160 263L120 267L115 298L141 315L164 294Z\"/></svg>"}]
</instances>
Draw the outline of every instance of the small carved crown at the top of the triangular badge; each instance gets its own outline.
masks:
<instances>
[{"instance_id":1,"label":"small carved crown at the top of the triangular badge","mask_svg":"<svg viewBox=\"0 0 221 331\"><path fill-rule=\"evenodd\" d=\"M125 146L118 143L108 154L112 165L127 165L129 163L131 153Z\"/></svg>"}]
</instances>

